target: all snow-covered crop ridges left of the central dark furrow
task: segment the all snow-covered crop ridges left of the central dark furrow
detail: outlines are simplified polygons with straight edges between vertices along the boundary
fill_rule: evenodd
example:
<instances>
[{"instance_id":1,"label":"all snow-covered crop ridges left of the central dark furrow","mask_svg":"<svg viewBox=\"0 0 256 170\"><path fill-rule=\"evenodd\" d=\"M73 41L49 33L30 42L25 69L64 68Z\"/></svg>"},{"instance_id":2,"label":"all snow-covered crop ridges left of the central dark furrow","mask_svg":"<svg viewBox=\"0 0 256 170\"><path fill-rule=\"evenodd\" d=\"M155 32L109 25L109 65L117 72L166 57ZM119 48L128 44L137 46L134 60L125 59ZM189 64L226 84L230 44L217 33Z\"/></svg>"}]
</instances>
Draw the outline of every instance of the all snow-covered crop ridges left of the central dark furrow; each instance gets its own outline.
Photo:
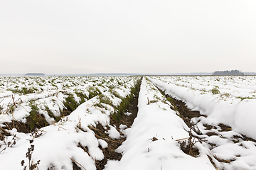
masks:
<instances>
[{"instance_id":1,"label":"all snow-covered crop ridges left of the central dark furrow","mask_svg":"<svg viewBox=\"0 0 256 170\"><path fill-rule=\"evenodd\" d=\"M85 167L85 169L96 169L95 160L101 160L104 157L99 145L105 148L107 142L97 140L89 127L100 123L104 127L110 127L107 131L110 137L119 138L119 132L110 125L110 115L118 111L122 99L131 94L131 89L139 77L11 77L7 78L7 81L6 77L2 79L5 81L1 81L4 84L1 90L1 128L5 126L4 123L11 122L13 118L25 123L32 109L31 102L36 103L39 108L37 112L43 114L50 125L32 133L17 132L16 128L7 130L11 136L6 136L0 141L1 169L23 169L23 166L27 166L28 169L28 166L36 164L38 160L40 160L40 164L36 165L38 169L73 169L73 160L79 162L78 166ZM10 83L9 79L15 81ZM15 82L20 82L18 85L21 87L14 88L35 87L39 89L38 82L34 82L37 79L47 80L45 86L42 86L44 90L38 90L33 94L16 94L9 90ZM60 81L62 79L67 80ZM57 81L55 83L57 87L53 86L52 81ZM68 84L67 88L64 87L66 84ZM68 94L73 94L74 98L80 101L82 99L75 96L75 92L85 92L89 97L90 86L93 89L100 89L101 94L85 101L70 115L62 117L58 122L47 115L43 107L45 105L49 108L52 106L51 111L56 111L56 116L65 108L63 102L68 95L63 94L63 91L68 91ZM15 96L15 99L11 96ZM21 103L18 103L17 99ZM86 98L83 99L86 100ZM106 104L107 102L110 104ZM17 108L11 111L9 108L14 106L14 103ZM44 114L43 111L46 113ZM31 162L29 162L26 154L28 154L32 140L35 149ZM78 147L78 144L87 147L90 154ZM21 166L22 160L25 162L23 166Z\"/></svg>"}]
</instances>

